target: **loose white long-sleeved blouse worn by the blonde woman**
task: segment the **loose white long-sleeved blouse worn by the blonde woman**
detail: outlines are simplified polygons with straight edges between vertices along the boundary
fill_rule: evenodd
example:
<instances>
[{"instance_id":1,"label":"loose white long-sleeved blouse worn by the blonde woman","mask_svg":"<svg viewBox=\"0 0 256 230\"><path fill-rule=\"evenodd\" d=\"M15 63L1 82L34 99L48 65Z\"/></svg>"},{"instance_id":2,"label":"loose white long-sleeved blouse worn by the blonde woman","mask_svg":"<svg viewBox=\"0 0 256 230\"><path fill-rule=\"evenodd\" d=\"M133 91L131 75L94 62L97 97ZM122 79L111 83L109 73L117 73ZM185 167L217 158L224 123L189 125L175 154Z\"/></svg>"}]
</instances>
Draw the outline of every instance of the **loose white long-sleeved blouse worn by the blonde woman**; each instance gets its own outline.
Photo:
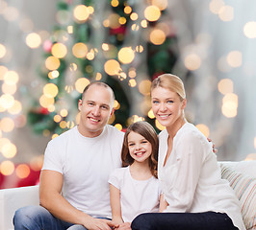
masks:
<instances>
[{"instance_id":1,"label":"loose white long-sleeved blouse worn by the blonde woman","mask_svg":"<svg viewBox=\"0 0 256 230\"><path fill-rule=\"evenodd\" d=\"M192 124L186 123L173 139L172 151L164 161L168 133L159 135L158 175L169 204L165 212L226 213L240 230L245 229L239 200L226 180L221 179L213 145Z\"/></svg>"}]
</instances>

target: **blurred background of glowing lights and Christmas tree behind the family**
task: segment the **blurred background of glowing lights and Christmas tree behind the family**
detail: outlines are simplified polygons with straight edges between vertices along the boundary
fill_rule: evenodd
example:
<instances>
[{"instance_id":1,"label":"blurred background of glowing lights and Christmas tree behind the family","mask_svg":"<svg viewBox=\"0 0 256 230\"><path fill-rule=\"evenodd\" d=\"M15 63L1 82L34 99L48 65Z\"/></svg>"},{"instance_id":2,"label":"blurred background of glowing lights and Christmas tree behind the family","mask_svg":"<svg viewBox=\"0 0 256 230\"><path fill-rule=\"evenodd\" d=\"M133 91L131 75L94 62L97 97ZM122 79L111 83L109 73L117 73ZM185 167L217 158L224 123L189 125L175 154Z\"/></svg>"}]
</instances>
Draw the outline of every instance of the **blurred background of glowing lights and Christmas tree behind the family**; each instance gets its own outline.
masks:
<instances>
[{"instance_id":1,"label":"blurred background of glowing lights and Christmas tree behind the family","mask_svg":"<svg viewBox=\"0 0 256 230\"><path fill-rule=\"evenodd\" d=\"M38 183L90 81L115 91L110 124L159 132L150 83L175 74L218 160L256 159L255 11L253 0L0 0L0 189Z\"/></svg>"}]
</instances>

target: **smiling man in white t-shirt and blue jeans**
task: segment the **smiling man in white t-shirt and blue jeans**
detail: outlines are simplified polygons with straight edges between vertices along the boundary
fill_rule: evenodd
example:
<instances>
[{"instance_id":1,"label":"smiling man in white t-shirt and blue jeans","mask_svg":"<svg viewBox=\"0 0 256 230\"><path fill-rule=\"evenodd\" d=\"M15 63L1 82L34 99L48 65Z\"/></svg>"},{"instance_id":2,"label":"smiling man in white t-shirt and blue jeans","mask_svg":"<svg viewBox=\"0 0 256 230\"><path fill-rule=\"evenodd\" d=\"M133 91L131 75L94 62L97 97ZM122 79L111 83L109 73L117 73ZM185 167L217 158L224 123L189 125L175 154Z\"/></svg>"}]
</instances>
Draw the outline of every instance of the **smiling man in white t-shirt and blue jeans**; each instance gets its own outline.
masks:
<instances>
[{"instance_id":1,"label":"smiling man in white t-shirt and blue jeans","mask_svg":"<svg viewBox=\"0 0 256 230\"><path fill-rule=\"evenodd\" d=\"M14 229L102 229L111 221L109 174L121 166L123 133L107 125L115 95L103 82L90 83L78 107L77 127L50 141L40 173L38 207L16 211Z\"/></svg>"}]
</instances>

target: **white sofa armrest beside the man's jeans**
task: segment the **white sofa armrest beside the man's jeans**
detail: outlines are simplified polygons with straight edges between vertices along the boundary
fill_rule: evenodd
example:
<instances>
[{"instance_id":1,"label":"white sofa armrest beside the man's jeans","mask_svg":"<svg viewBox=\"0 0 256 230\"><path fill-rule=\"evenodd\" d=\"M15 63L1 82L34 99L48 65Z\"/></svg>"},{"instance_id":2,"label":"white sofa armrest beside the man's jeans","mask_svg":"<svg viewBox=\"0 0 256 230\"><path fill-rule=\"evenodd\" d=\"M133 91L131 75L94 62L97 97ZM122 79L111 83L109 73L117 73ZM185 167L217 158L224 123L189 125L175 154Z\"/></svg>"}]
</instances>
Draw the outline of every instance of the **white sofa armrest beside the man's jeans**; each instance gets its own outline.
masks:
<instances>
[{"instance_id":1,"label":"white sofa armrest beside the man's jeans","mask_svg":"<svg viewBox=\"0 0 256 230\"><path fill-rule=\"evenodd\" d=\"M13 229L15 211L27 205L38 205L38 185L0 190L0 229Z\"/></svg>"}]
</instances>

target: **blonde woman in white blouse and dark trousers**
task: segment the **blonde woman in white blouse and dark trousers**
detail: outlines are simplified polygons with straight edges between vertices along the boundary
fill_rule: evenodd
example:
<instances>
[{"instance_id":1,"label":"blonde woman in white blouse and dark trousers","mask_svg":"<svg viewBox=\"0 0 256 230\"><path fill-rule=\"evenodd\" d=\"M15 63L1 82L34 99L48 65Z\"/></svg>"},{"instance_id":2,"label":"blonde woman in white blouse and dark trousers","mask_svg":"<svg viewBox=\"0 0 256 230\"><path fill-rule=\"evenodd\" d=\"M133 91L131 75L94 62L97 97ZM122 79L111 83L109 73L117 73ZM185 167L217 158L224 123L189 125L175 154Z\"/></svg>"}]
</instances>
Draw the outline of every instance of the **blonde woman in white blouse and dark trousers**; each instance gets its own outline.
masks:
<instances>
[{"instance_id":1,"label":"blonde woman in white blouse and dark trousers","mask_svg":"<svg viewBox=\"0 0 256 230\"><path fill-rule=\"evenodd\" d=\"M220 177L211 143L185 119L183 82L170 74L158 77L151 85L151 103L166 127L159 135L158 162L166 210L141 214L132 229L245 229L239 201Z\"/></svg>"}]
</instances>

